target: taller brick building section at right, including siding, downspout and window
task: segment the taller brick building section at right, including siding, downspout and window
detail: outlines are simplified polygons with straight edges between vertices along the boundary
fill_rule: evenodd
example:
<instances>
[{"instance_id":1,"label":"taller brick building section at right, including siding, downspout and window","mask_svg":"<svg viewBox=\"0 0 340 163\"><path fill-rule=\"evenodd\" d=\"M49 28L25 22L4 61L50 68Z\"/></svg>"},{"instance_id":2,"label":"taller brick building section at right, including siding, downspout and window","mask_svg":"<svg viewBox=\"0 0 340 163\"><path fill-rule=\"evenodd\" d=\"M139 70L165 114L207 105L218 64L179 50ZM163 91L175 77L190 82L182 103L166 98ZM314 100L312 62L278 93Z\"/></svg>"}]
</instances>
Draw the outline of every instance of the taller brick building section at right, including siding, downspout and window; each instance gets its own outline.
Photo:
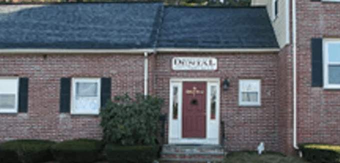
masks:
<instances>
[{"instance_id":1,"label":"taller brick building section at right, including siding, downspout and window","mask_svg":"<svg viewBox=\"0 0 340 163\"><path fill-rule=\"evenodd\" d=\"M282 150L292 152L303 142L340 144L340 1L252 0L252 5L266 6L280 47Z\"/></svg>"}]
</instances>

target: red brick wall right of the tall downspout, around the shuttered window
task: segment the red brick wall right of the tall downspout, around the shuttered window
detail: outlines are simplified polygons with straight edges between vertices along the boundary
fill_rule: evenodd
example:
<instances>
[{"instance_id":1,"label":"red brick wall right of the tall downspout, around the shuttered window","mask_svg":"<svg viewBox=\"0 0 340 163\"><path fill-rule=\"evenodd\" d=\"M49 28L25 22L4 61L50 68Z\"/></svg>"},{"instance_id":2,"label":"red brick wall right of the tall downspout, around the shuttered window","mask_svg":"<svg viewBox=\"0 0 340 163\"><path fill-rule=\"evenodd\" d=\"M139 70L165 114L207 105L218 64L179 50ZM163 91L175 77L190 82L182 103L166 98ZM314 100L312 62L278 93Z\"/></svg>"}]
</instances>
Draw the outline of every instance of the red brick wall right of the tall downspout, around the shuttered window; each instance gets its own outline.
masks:
<instances>
[{"instance_id":1,"label":"red brick wall right of the tall downspout, around the shuttered window","mask_svg":"<svg viewBox=\"0 0 340 163\"><path fill-rule=\"evenodd\" d=\"M296 0L297 142L340 144L340 90L311 86L310 38L340 38L340 2Z\"/></svg>"}]
</instances>

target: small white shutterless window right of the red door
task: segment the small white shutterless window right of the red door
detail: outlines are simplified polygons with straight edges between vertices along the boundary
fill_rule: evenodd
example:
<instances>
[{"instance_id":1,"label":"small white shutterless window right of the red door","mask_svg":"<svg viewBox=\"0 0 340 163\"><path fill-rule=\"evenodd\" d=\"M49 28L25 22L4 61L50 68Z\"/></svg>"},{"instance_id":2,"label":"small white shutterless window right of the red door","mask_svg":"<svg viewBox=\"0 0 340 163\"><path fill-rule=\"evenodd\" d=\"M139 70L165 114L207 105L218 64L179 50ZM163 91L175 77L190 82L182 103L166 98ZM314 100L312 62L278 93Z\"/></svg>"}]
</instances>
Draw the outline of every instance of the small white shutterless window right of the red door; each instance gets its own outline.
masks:
<instances>
[{"instance_id":1,"label":"small white shutterless window right of the red door","mask_svg":"<svg viewBox=\"0 0 340 163\"><path fill-rule=\"evenodd\" d=\"M261 105L261 81L260 79L240 79L238 82L238 105Z\"/></svg>"}]
</instances>

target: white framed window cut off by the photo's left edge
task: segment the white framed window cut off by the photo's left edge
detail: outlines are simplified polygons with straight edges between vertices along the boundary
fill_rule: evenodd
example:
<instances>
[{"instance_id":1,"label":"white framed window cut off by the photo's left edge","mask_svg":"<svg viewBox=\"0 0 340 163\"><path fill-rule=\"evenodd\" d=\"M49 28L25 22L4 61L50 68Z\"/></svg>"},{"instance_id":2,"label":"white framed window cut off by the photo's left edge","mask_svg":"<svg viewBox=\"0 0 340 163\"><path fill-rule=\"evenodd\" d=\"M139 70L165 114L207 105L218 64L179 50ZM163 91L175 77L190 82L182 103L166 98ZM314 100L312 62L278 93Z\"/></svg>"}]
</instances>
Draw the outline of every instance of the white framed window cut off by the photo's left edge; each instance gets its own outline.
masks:
<instances>
[{"instance_id":1,"label":"white framed window cut off by the photo's left edge","mask_svg":"<svg viewBox=\"0 0 340 163\"><path fill-rule=\"evenodd\" d=\"M0 77L0 113L17 112L18 89L18 77Z\"/></svg>"}]
</instances>

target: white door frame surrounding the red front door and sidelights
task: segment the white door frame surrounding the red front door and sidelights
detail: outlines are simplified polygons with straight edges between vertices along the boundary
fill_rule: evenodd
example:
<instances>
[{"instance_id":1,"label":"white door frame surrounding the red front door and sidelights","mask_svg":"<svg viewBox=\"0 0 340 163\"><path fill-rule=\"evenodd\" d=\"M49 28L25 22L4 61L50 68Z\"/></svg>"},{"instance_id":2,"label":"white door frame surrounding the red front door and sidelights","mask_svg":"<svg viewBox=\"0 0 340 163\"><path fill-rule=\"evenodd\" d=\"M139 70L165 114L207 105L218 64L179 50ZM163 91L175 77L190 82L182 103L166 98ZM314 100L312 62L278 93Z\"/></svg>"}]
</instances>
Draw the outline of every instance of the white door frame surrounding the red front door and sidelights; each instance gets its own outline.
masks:
<instances>
[{"instance_id":1,"label":"white door frame surrounding the red front door and sidelights","mask_svg":"<svg viewBox=\"0 0 340 163\"><path fill-rule=\"evenodd\" d=\"M206 124L205 138L183 138L182 137L182 85L183 81L204 81L206 82ZM219 144L219 78L170 78L169 80L169 123L168 142L169 144ZM178 108L177 119L172 118L173 86L177 86ZM210 87L216 86L216 108L215 119L210 118Z\"/></svg>"}]
</instances>

